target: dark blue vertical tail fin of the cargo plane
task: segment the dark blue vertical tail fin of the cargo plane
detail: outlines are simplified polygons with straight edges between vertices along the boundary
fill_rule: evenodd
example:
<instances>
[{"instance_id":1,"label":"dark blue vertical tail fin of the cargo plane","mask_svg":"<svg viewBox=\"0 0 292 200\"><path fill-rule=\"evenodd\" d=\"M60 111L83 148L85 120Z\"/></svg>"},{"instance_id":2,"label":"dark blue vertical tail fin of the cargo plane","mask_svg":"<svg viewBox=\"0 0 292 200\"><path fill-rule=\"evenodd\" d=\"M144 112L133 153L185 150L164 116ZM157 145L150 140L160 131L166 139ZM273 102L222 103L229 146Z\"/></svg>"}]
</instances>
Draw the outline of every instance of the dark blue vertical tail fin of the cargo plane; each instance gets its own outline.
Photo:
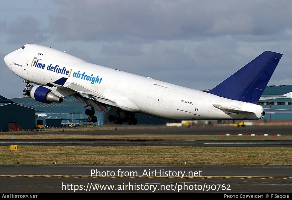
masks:
<instances>
[{"instance_id":1,"label":"dark blue vertical tail fin of the cargo plane","mask_svg":"<svg viewBox=\"0 0 292 200\"><path fill-rule=\"evenodd\" d=\"M205 92L257 104L282 55L265 51L215 88Z\"/></svg>"}]
</instances>

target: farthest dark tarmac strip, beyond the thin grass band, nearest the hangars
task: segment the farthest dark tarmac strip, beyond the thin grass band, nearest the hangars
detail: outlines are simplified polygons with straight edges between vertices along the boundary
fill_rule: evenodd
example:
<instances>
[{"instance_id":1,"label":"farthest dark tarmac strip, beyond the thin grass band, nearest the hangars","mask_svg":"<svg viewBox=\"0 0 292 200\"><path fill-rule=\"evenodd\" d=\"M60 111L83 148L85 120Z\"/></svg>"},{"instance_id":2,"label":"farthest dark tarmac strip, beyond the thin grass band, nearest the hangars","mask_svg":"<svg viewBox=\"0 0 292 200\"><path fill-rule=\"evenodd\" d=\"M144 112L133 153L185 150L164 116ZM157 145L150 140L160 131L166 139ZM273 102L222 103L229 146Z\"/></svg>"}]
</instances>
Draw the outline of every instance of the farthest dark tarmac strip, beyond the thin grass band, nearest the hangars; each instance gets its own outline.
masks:
<instances>
[{"instance_id":1,"label":"farthest dark tarmac strip, beyond the thin grass band, nearest the hangars","mask_svg":"<svg viewBox=\"0 0 292 200\"><path fill-rule=\"evenodd\" d=\"M115 128L115 127L112 127ZM75 127L71 129L65 129L65 132L59 131L46 131L46 132L25 132L27 135L38 135L38 134L65 134L65 135L74 135L74 134L91 134L91 135L112 135L112 134L165 134L165 135L220 135L220 134L255 134L256 136L264 134L275 136L280 135L292 135L292 124L284 125L253 125L245 127L234 127L226 125L216 125L216 126L191 126L187 127L165 127L165 126L136 126L130 128L129 125L121 125L116 127L117 130L92 130L92 131L78 131L80 128ZM77 131L76 131L77 130ZM4 133L3 133L4 134ZM5 134L14 135L15 132L5 132Z\"/></svg>"}]
</instances>

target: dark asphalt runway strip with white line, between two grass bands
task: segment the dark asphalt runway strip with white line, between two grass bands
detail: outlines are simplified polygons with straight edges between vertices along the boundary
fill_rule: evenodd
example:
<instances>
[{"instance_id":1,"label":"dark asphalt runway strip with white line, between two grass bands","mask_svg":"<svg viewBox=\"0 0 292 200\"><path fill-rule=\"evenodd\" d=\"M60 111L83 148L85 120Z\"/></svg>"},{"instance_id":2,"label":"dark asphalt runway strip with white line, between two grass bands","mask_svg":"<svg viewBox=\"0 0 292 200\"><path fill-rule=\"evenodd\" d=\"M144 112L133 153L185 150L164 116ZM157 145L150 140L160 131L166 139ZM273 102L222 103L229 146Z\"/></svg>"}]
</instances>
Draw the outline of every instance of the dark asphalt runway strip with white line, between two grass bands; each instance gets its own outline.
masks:
<instances>
[{"instance_id":1,"label":"dark asphalt runway strip with white line, between two grass bands","mask_svg":"<svg viewBox=\"0 0 292 200\"><path fill-rule=\"evenodd\" d=\"M292 140L108 140L108 139L6 139L6 145L50 146L193 146L193 147L292 147Z\"/></svg>"}]
</instances>

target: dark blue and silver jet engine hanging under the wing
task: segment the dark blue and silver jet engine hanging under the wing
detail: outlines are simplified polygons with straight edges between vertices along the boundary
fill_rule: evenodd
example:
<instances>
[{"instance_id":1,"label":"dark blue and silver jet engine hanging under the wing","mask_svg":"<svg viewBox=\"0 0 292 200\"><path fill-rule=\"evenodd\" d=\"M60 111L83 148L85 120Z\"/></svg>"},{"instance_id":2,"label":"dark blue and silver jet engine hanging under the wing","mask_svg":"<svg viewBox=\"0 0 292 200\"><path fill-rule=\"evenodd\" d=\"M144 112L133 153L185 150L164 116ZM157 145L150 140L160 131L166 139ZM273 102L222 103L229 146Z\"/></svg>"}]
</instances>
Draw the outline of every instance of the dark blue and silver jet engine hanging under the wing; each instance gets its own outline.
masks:
<instances>
[{"instance_id":1,"label":"dark blue and silver jet engine hanging under the wing","mask_svg":"<svg viewBox=\"0 0 292 200\"><path fill-rule=\"evenodd\" d=\"M61 103L63 102L63 98L58 97L52 90L45 88L43 86L34 86L30 89L30 96L32 99L36 101L40 101L43 103Z\"/></svg>"}]
</instances>

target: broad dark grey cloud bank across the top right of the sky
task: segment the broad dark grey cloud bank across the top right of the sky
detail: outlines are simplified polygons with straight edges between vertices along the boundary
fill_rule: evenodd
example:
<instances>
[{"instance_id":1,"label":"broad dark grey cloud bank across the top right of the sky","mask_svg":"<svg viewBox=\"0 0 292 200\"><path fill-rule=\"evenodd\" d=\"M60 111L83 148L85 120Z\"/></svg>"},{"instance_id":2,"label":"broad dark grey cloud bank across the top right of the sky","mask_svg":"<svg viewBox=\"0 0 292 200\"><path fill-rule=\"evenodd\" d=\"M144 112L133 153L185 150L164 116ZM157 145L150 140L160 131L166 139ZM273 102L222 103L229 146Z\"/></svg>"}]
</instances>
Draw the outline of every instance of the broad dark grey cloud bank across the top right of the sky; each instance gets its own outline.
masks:
<instances>
[{"instance_id":1,"label":"broad dark grey cloud bank across the top right of the sky","mask_svg":"<svg viewBox=\"0 0 292 200\"><path fill-rule=\"evenodd\" d=\"M286 1L60 1L49 15L60 40L199 40L271 35L291 24ZM207 9L208 8L208 9ZM284 18L282 18L282 16Z\"/></svg>"}]
</instances>

